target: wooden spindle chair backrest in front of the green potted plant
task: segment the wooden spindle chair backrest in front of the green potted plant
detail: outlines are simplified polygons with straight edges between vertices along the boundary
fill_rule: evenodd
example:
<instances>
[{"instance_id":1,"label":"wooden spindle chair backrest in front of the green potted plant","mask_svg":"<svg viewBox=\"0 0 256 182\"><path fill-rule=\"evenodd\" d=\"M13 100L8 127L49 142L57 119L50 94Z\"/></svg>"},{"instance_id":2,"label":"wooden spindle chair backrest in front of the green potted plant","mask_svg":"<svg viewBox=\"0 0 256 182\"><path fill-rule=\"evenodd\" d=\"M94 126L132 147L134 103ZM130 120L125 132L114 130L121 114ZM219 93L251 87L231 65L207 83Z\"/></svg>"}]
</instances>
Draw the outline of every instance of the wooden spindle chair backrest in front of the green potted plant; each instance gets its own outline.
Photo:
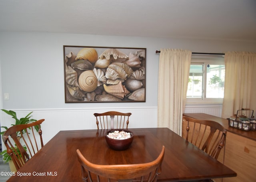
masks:
<instances>
[{"instance_id":1,"label":"wooden spindle chair backrest in front of the green potted plant","mask_svg":"<svg viewBox=\"0 0 256 182\"><path fill-rule=\"evenodd\" d=\"M14 125L4 132L3 142L17 170L44 146L40 126L43 121L44 119L41 119L29 124ZM40 136L41 147L38 147L39 139L35 135L36 129ZM17 134L20 136L17 137Z\"/></svg>"}]
</instances>

